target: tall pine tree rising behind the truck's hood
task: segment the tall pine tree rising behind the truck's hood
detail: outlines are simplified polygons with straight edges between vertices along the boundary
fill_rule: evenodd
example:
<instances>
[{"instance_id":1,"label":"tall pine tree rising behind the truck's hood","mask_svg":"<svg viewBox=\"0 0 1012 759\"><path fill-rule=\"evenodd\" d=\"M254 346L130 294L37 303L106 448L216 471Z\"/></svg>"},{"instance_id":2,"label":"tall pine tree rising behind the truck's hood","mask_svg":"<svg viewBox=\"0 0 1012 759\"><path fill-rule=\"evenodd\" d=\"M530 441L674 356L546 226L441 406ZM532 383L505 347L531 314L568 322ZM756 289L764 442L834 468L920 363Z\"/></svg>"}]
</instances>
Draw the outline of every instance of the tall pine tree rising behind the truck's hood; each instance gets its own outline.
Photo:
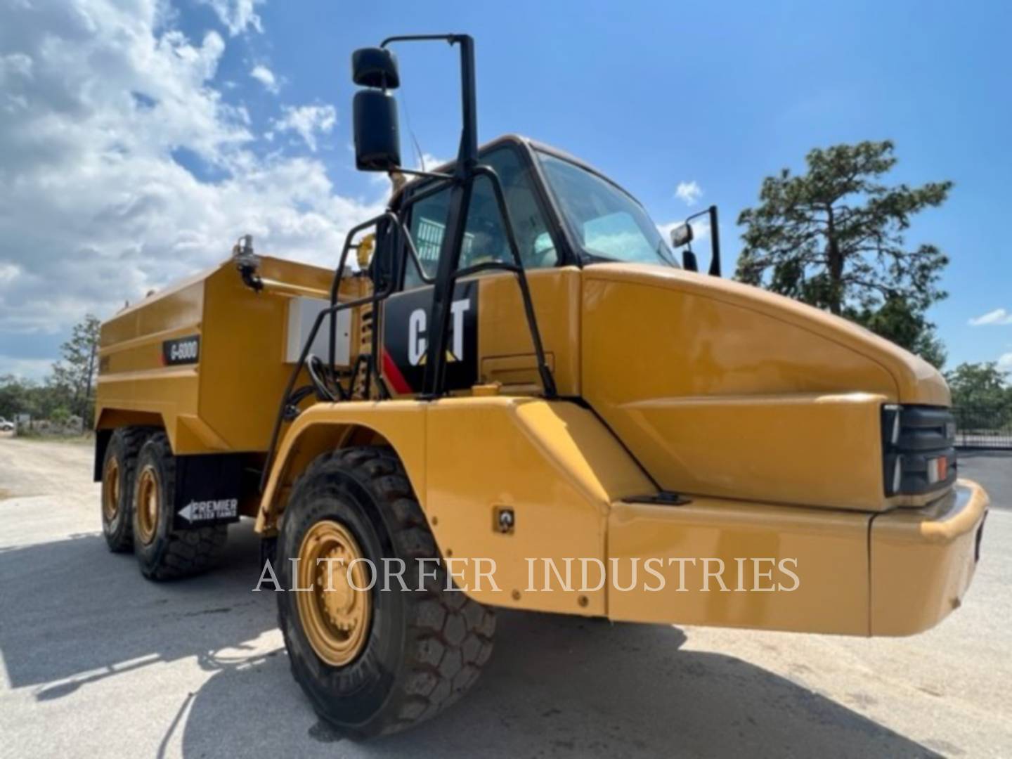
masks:
<instances>
[{"instance_id":1,"label":"tall pine tree rising behind the truck's hood","mask_svg":"<svg viewBox=\"0 0 1012 759\"><path fill-rule=\"evenodd\" d=\"M893 143L816 149L808 171L766 177L760 204L738 218L745 248L738 279L826 309L941 365L945 355L925 317L945 298L948 258L934 245L909 249L911 217L941 205L952 182L887 186Z\"/></svg>"}]
</instances>

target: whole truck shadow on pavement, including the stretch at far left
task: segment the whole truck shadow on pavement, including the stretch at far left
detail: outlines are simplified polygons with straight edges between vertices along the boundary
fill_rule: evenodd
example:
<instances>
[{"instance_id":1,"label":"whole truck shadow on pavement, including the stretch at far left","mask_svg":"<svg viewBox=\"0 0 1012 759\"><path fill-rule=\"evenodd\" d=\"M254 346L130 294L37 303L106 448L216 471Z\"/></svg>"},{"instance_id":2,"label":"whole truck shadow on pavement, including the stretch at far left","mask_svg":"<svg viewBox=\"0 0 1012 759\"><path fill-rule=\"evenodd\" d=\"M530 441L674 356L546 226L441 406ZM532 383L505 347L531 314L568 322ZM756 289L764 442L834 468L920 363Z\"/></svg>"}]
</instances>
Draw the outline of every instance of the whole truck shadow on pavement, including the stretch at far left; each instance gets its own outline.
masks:
<instances>
[{"instance_id":1,"label":"whole truck shadow on pavement, including the stretch at far left","mask_svg":"<svg viewBox=\"0 0 1012 759\"><path fill-rule=\"evenodd\" d=\"M257 556L248 525L233 528L225 566L192 582L147 582L97 534L0 553L11 687L55 700L193 657L213 674L180 692L159 752L192 757L236 746L369 757L936 755L762 668L680 650L676 627L516 612L500 613L492 661L461 702L356 745L317 720L282 648L264 654L261 642L254 654L244 643L275 627L272 593L249 592Z\"/></svg>"}]
</instances>

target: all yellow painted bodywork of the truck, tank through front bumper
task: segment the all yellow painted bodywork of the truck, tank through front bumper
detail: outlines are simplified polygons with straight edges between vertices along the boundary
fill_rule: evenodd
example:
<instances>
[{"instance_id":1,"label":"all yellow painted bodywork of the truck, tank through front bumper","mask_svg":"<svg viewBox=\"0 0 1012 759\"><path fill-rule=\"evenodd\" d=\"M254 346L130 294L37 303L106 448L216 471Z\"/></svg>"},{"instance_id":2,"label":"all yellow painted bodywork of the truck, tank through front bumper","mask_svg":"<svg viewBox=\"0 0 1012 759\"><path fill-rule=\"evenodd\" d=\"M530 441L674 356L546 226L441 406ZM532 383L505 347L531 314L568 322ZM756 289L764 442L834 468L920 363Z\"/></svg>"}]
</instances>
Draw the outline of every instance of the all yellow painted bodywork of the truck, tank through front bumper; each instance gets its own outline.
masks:
<instances>
[{"instance_id":1,"label":"all yellow painted bodywork of the truck, tank through front bumper","mask_svg":"<svg viewBox=\"0 0 1012 759\"><path fill-rule=\"evenodd\" d=\"M262 455L290 371L281 360L285 300L322 297L330 276L263 260L263 292L226 263L103 327L99 428L157 422L177 453ZM534 397L515 282L502 274L479 280L480 387L434 402L311 406L284 429L256 512L259 531L276 530L291 485L314 457L388 444L458 584L484 603L850 635L915 632L958 603L986 494L960 481L931 499L882 495L880 406L947 406L932 367L752 287L659 266L595 264L529 272L560 393L589 408L547 402ZM349 278L341 297L365 287ZM358 334L358 315L353 325ZM198 364L158 366L162 340L195 332ZM359 345L367 348L352 340L353 351ZM651 503L658 486L688 503ZM514 515L508 531L497 523L504 509ZM601 587L584 586L574 567L571 586L550 574L553 592L539 589L545 561L565 571L567 559L580 558L606 568ZM728 591L702 592L705 568L694 565L685 568L684 591L667 566L663 590L615 588L629 580L634 560L678 558L721 560L729 573L741 558L795 560L798 586L745 592L736 577ZM496 587L481 582L488 566L476 559L495 562ZM769 582L785 579L777 569Z\"/></svg>"}]
</instances>

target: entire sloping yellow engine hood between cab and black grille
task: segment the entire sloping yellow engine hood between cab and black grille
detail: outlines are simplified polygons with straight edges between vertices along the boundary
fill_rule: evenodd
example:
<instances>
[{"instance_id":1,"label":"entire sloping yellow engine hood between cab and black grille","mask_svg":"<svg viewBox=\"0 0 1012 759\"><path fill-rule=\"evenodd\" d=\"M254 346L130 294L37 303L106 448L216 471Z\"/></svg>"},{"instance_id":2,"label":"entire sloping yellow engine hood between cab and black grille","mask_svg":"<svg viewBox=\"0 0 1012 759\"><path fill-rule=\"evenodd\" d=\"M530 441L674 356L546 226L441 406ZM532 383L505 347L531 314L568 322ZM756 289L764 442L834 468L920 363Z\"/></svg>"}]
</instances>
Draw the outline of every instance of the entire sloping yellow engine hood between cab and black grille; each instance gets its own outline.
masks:
<instances>
[{"instance_id":1,"label":"entire sloping yellow engine hood between cab and black grille","mask_svg":"<svg viewBox=\"0 0 1012 759\"><path fill-rule=\"evenodd\" d=\"M884 510L882 405L949 404L925 361L786 298L651 265L582 275L582 395L667 490Z\"/></svg>"}]
</instances>

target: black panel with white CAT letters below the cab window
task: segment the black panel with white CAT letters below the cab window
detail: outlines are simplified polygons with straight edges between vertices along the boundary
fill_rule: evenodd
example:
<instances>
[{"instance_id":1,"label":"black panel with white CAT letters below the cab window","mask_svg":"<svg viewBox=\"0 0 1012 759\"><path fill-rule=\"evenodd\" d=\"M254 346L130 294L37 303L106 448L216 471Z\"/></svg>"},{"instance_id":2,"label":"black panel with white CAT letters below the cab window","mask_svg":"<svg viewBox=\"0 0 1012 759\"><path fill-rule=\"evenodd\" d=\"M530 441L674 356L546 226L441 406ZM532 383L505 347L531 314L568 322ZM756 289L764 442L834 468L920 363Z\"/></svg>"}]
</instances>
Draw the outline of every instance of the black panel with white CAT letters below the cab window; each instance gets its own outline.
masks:
<instances>
[{"instance_id":1,"label":"black panel with white CAT letters below the cab window","mask_svg":"<svg viewBox=\"0 0 1012 759\"><path fill-rule=\"evenodd\" d=\"M398 395L422 390L429 347L432 288L400 292L388 299L383 316L383 373ZM446 347L445 387L470 388L478 377L478 282L453 290Z\"/></svg>"}]
</instances>

